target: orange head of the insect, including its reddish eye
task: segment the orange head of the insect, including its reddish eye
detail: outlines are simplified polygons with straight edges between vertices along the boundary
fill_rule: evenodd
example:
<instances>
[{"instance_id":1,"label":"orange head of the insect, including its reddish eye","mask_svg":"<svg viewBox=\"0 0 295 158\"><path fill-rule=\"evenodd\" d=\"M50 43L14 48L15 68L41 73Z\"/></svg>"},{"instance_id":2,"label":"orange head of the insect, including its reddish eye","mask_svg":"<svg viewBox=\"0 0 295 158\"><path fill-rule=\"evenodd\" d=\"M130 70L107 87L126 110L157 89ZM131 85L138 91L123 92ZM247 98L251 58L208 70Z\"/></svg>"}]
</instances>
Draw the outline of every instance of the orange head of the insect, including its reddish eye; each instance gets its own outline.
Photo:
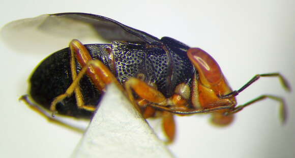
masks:
<instances>
[{"instance_id":1,"label":"orange head of the insect, including its reddish eye","mask_svg":"<svg viewBox=\"0 0 295 158\"><path fill-rule=\"evenodd\" d=\"M187 55L198 72L198 99L200 108L209 109L225 105L234 107L235 98L222 99L232 90L215 59L200 48L190 48ZM225 110L217 112L224 113ZM227 121L230 123L230 121ZM220 124L220 123L218 123Z\"/></svg>"}]
</instances>

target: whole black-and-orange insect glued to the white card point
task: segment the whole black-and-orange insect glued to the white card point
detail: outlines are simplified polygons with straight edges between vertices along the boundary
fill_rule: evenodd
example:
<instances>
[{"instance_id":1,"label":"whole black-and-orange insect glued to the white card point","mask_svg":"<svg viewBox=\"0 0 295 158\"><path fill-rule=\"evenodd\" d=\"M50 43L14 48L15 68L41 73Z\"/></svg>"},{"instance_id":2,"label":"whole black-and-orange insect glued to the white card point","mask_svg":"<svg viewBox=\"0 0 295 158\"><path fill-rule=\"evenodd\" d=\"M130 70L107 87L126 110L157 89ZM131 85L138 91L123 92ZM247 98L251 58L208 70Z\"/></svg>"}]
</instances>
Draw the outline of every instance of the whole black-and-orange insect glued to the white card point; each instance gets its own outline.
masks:
<instances>
[{"instance_id":1,"label":"whole black-and-orange insect glued to the white card point","mask_svg":"<svg viewBox=\"0 0 295 158\"><path fill-rule=\"evenodd\" d=\"M240 106L235 99L260 77L278 77L289 90L279 73L255 75L232 90L215 59L200 48L169 37L158 39L99 15L59 13L45 18L88 24L112 42L84 45L73 40L44 59L29 80L29 93L21 98L29 105L91 119L106 86L114 83L144 118L162 117L168 142L175 136L174 114L212 113L211 121L224 126L246 106L269 98L280 102L281 120L286 119L282 98L262 95Z\"/></svg>"}]
</instances>

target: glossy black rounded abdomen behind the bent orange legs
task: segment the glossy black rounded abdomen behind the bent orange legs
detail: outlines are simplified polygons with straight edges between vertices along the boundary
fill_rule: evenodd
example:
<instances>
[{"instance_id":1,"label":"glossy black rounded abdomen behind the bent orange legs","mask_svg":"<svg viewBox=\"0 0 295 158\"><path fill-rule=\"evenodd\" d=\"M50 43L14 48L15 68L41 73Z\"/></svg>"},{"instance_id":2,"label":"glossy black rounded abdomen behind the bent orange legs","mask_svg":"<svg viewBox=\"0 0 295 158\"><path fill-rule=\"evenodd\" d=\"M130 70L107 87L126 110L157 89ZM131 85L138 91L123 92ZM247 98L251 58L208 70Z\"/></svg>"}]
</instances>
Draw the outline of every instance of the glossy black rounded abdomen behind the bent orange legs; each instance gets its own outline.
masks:
<instances>
[{"instance_id":1,"label":"glossy black rounded abdomen behind the bent orange legs","mask_svg":"<svg viewBox=\"0 0 295 158\"><path fill-rule=\"evenodd\" d=\"M105 52L104 49L109 48L109 45L93 44L85 46L93 58L100 59L107 65L106 56L102 51ZM80 69L81 66L78 64L78 72ZM53 99L65 93L72 81L70 51L69 48L65 48L48 56L33 72L30 78L30 95L36 103L49 109ZM84 76L80 81L80 87L85 104L98 105L101 92L96 89L87 76ZM77 108L74 94L58 103L56 109L59 114L77 118L91 118L92 116L92 112Z\"/></svg>"}]
</instances>

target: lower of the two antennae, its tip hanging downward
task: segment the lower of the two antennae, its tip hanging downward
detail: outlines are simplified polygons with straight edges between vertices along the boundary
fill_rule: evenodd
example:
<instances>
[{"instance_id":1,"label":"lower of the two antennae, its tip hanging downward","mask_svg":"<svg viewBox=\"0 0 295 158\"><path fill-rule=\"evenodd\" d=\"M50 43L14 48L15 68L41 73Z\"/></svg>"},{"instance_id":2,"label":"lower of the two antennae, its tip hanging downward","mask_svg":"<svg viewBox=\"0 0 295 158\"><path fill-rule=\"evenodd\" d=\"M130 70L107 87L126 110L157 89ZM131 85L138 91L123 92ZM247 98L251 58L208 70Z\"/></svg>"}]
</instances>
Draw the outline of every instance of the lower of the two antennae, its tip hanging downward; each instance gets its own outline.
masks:
<instances>
[{"instance_id":1,"label":"lower of the two antennae, its tip hanging downward","mask_svg":"<svg viewBox=\"0 0 295 158\"><path fill-rule=\"evenodd\" d=\"M276 96L271 96L271 95L262 95L260 97L257 97L255 99L243 104L243 105L239 105L239 106L235 107L234 109L225 112L224 115L230 115L230 114L237 113L237 112L241 111L242 109L244 109L245 107L247 107L253 103L256 103L258 101L267 99L267 98L278 101L280 103L280 111L279 111L280 112L280 119L281 119L282 123L284 123L287 118L286 106L285 106L284 99L280 98L280 97L276 97Z\"/></svg>"}]
</instances>

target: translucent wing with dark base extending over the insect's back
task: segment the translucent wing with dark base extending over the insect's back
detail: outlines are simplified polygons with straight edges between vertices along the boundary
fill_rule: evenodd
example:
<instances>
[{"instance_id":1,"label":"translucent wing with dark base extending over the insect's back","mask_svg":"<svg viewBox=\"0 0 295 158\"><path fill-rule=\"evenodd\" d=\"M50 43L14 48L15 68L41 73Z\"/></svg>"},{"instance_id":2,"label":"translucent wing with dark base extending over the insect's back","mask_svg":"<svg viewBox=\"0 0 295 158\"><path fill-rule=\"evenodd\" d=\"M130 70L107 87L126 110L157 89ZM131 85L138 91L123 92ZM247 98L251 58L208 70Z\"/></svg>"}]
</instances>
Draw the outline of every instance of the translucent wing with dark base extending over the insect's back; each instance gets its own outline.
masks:
<instances>
[{"instance_id":1,"label":"translucent wing with dark base extending over the insect's back","mask_svg":"<svg viewBox=\"0 0 295 158\"><path fill-rule=\"evenodd\" d=\"M115 20L86 13L58 13L13 21L1 30L2 40L21 51L56 51L72 39L83 43L140 41L159 44L159 39Z\"/></svg>"}]
</instances>

